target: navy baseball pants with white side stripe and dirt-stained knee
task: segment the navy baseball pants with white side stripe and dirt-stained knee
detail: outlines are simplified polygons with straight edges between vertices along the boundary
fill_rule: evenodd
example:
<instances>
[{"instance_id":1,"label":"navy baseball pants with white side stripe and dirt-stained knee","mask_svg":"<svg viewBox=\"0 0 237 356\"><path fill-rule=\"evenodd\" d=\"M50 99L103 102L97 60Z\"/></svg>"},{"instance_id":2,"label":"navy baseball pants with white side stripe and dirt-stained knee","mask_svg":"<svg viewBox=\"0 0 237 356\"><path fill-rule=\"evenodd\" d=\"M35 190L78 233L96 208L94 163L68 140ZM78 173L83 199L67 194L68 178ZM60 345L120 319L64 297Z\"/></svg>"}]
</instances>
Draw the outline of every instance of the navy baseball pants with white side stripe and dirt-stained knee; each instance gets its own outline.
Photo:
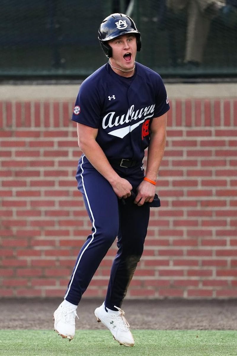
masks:
<instances>
[{"instance_id":1,"label":"navy baseball pants with white side stripe and dirt-stained knee","mask_svg":"<svg viewBox=\"0 0 237 356\"><path fill-rule=\"evenodd\" d=\"M130 182L135 193L144 178L142 163L133 168L114 169L120 177ZM118 199L107 179L85 155L79 160L76 179L92 223L92 232L79 251L65 299L72 304L79 304L99 264L118 237L118 251L105 298L106 307L117 310L114 305L122 305L143 252L150 207L148 204L138 206L130 197Z\"/></svg>"}]
</instances>

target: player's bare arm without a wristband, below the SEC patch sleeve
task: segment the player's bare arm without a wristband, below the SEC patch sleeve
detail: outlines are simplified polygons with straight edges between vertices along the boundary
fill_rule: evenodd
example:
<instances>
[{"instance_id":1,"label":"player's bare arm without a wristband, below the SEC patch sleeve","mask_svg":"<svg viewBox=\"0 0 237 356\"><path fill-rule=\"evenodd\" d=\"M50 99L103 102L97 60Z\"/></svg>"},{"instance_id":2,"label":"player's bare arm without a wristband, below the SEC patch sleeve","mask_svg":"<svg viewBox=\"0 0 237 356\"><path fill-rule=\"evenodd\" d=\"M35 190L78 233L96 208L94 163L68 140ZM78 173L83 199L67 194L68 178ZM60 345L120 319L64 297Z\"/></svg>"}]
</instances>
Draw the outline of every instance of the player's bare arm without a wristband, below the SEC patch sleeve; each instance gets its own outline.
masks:
<instances>
[{"instance_id":1,"label":"player's bare arm without a wristband, below the SEC patch sleeve","mask_svg":"<svg viewBox=\"0 0 237 356\"><path fill-rule=\"evenodd\" d=\"M98 129L77 123L78 145L93 167L102 174L112 185L115 194L119 198L127 198L131 195L132 186L128 180L119 177L104 154L102 148L96 142Z\"/></svg>"}]
</instances>

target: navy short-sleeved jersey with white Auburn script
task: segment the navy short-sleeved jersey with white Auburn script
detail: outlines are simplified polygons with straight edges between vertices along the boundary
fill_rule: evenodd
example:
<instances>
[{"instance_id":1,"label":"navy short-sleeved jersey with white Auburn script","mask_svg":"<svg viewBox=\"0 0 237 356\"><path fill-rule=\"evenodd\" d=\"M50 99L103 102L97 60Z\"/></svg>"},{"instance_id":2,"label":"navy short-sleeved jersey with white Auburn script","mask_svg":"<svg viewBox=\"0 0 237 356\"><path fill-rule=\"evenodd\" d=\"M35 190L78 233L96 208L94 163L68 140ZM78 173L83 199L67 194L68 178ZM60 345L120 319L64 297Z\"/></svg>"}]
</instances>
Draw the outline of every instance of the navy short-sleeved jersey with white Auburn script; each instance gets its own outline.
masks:
<instances>
[{"instance_id":1,"label":"navy short-sleeved jersey with white Auburn script","mask_svg":"<svg viewBox=\"0 0 237 356\"><path fill-rule=\"evenodd\" d=\"M72 120L98 129L96 141L108 159L141 161L151 120L168 110L159 74L136 62L133 77L124 78L107 63L81 84Z\"/></svg>"}]
</instances>

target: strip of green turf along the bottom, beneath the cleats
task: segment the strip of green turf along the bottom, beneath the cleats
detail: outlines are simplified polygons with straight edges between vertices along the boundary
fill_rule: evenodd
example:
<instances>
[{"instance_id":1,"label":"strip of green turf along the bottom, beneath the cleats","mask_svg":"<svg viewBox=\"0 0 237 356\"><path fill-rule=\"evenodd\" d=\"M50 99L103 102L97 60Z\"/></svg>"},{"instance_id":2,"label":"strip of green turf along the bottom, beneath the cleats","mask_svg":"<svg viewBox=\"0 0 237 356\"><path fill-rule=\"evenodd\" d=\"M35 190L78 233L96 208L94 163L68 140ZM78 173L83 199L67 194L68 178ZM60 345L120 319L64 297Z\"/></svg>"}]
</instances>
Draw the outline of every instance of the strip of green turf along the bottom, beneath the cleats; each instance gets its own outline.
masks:
<instances>
[{"instance_id":1,"label":"strip of green turf along the bottom, beneath the cleats","mask_svg":"<svg viewBox=\"0 0 237 356\"><path fill-rule=\"evenodd\" d=\"M68 341L51 330L0 330L1 356L236 356L236 330L133 330L134 347L108 330L77 330Z\"/></svg>"}]
</instances>

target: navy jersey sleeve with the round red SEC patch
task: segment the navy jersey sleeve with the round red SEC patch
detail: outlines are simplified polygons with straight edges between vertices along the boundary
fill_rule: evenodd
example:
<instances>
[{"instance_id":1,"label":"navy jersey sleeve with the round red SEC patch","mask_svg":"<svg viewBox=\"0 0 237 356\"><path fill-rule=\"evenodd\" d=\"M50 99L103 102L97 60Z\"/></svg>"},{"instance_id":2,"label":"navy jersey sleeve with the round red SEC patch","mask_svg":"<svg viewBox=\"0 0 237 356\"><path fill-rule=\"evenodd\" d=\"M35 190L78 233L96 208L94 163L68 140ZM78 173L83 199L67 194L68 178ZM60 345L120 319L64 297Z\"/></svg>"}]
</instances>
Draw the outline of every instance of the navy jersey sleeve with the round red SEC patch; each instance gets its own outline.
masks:
<instances>
[{"instance_id":1,"label":"navy jersey sleeve with the round red SEC patch","mask_svg":"<svg viewBox=\"0 0 237 356\"><path fill-rule=\"evenodd\" d=\"M100 112L100 99L95 86L83 82L76 98L71 120L98 129Z\"/></svg>"}]
</instances>

